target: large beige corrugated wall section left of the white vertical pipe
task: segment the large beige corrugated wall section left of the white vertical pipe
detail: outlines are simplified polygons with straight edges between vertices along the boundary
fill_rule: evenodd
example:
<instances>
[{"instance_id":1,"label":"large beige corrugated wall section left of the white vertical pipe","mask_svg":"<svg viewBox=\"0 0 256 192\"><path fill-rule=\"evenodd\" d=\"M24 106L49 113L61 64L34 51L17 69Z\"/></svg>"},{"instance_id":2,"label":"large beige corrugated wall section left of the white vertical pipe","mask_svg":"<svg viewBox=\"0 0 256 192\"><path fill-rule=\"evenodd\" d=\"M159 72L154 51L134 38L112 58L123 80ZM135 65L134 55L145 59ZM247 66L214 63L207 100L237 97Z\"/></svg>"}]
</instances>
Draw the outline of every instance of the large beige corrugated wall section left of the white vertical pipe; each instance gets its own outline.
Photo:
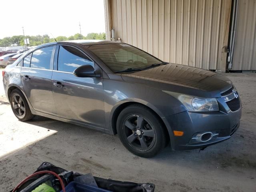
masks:
<instances>
[{"instance_id":1,"label":"large beige corrugated wall section left of the white vertical pipe","mask_svg":"<svg viewBox=\"0 0 256 192\"><path fill-rule=\"evenodd\" d=\"M106 36L172 63L226 67L231 0L105 0ZM112 18L112 22L111 22Z\"/></svg>"}]
</instances>

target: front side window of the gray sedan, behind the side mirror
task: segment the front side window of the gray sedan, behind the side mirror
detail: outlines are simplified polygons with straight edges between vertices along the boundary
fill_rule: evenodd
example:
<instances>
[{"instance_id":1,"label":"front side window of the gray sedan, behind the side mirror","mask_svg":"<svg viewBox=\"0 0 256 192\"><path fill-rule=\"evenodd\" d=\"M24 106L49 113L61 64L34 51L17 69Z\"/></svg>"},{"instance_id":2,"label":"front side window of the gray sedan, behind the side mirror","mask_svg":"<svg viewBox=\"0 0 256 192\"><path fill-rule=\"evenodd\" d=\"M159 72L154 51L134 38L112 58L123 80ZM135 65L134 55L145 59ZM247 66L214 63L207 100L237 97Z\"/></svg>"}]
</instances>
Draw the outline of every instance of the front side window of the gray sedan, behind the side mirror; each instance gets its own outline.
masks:
<instances>
[{"instance_id":1,"label":"front side window of the gray sedan, behind the side mirror","mask_svg":"<svg viewBox=\"0 0 256 192\"><path fill-rule=\"evenodd\" d=\"M58 55L58 70L65 72L73 72L82 65L91 65L92 62L85 54L71 46L60 46Z\"/></svg>"}]
</instances>

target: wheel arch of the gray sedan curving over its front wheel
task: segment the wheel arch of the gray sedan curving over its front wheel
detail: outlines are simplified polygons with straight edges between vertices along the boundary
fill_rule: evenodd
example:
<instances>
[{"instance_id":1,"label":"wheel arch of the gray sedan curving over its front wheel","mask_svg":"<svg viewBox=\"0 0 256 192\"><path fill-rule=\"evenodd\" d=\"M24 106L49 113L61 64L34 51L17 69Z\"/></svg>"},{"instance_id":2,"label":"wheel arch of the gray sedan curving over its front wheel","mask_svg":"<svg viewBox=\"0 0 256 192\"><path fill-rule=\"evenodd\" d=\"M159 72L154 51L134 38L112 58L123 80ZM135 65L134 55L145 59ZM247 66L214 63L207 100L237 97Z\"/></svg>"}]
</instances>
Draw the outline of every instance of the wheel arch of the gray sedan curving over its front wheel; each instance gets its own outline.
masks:
<instances>
[{"instance_id":1,"label":"wheel arch of the gray sedan curving over its front wheel","mask_svg":"<svg viewBox=\"0 0 256 192\"><path fill-rule=\"evenodd\" d=\"M111 121L111 125L112 125L112 130L114 134L117 134L117 130L116 130L116 122L117 122L117 118L120 114L120 112L122 112L122 110L124 110L124 108L131 106L131 105L138 105L138 106L143 106L144 108L147 108L148 110L150 110L151 112L153 112L156 117L158 118L158 120L162 123L162 127L164 128L164 130L166 131L166 139L169 142L170 141L170 136L169 136L169 130L166 127L166 124L164 123L164 121L162 120L162 118L160 117L160 115L158 113L156 113L152 108L139 103L139 102L125 102L123 104L120 104L115 111L113 112L112 115L112 121Z\"/></svg>"}]
</instances>

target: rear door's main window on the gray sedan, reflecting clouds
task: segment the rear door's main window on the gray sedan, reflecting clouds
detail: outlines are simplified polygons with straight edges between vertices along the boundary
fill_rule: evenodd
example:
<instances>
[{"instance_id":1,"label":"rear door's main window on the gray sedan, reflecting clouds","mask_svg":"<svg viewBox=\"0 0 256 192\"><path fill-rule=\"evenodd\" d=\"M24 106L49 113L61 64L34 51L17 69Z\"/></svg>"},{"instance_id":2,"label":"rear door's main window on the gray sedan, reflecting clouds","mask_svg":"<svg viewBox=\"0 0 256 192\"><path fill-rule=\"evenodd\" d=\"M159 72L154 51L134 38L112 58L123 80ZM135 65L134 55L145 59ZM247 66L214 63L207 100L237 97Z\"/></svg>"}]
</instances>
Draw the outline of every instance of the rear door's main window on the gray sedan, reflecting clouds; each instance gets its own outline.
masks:
<instances>
[{"instance_id":1,"label":"rear door's main window on the gray sedan, reflecting clouds","mask_svg":"<svg viewBox=\"0 0 256 192\"><path fill-rule=\"evenodd\" d=\"M38 49L33 52L30 67L50 69L52 50L54 46Z\"/></svg>"}]
</instances>

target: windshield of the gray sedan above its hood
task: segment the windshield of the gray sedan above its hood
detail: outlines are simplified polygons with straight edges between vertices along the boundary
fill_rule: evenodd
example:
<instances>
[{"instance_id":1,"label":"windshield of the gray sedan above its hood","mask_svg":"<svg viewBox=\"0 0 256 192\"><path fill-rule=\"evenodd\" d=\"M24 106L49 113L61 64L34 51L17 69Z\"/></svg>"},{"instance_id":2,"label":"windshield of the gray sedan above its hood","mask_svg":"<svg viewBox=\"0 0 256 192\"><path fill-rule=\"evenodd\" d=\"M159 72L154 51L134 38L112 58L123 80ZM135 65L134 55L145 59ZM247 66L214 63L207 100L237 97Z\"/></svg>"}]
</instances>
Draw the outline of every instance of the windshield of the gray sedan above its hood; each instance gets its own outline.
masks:
<instances>
[{"instance_id":1,"label":"windshield of the gray sedan above its hood","mask_svg":"<svg viewBox=\"0 0 256 192\"><path fill-rule=\"evenodd\" d=\"M112 71L145 69L162 61L128 44L98 44L88 46Z\"/></svg>"}]
</instances>

